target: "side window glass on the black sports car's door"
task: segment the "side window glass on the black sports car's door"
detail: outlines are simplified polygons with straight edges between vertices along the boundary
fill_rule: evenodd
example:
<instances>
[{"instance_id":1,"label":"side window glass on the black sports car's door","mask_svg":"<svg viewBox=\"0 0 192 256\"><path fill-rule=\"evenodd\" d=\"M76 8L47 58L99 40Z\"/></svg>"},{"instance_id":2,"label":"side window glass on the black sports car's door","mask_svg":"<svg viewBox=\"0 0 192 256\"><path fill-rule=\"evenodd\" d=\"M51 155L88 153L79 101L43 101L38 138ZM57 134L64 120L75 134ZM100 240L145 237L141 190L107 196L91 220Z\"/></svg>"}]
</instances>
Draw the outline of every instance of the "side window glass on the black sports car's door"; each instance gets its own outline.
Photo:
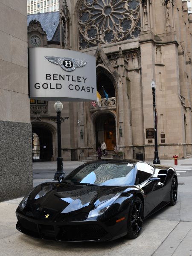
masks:
<instances>
[{"instance_id":1,"label":"side window glass on the black sports car's door","mask_svg":"<svg viewBox=\"0 0 192 256\"><path fill-rule=\"evenodd\" d=\"M148 163L138 163L137 164L137 176L138 183L143 183L145 180L148 180L154 172L154 167Z\"/></svg>"}]
</instances>

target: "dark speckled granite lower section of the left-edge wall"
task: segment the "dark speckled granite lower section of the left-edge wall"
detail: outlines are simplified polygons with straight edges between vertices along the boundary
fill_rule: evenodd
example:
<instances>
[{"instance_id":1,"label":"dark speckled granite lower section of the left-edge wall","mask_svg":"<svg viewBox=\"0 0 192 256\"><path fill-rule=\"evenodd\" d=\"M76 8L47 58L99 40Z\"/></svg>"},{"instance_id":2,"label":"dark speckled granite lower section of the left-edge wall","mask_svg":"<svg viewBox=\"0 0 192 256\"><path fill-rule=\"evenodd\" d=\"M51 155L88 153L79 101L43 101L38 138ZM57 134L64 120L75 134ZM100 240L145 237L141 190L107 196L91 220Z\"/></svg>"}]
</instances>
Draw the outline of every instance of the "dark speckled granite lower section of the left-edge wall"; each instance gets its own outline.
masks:
<instances>
[{"instance_id":1,"label":"dark speckled granite lower section of the left-edge wall","mask_svg":"<svg viewBox=\"0 0 192 256\"><path fill-rule=\"evenodd\" d=\"M31 124L0 121L0 201L33 188Z\"/></svg>"}]
</instances>

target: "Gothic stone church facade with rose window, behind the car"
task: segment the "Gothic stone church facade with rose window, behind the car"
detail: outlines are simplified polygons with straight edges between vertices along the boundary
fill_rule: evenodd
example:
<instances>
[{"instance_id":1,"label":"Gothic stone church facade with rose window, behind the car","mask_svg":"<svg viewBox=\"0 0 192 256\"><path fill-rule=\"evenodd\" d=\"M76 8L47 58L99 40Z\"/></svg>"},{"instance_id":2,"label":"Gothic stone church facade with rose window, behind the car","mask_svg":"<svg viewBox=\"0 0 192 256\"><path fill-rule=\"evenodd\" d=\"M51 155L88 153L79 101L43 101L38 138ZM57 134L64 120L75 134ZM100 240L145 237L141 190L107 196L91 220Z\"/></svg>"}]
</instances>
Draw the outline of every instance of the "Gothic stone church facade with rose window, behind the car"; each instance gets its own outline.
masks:
<instances>
[{"instance_id":1,"label":"Gothic stone church facade with rose window, behind the car","mask_svg":"<svg viewBox=\"0 0 192 256\"><path fill-rule=\"evenodd\" d=\"M94 55L102 96L101 108L97 103L63 102L62 115L69 117L61 125L64 160L82 160L102 140L108 150L121 145L125 158L152 160L152 79L160 159L191 154L192 17L187 1L63 0L59 17L60 40L55 45L48 41L47 47ZM35 134L47 132L49 160L57 155L53 105L47 102L47 113L40 114L40 107L31 119Z\"/></svg>"}]
</instances>

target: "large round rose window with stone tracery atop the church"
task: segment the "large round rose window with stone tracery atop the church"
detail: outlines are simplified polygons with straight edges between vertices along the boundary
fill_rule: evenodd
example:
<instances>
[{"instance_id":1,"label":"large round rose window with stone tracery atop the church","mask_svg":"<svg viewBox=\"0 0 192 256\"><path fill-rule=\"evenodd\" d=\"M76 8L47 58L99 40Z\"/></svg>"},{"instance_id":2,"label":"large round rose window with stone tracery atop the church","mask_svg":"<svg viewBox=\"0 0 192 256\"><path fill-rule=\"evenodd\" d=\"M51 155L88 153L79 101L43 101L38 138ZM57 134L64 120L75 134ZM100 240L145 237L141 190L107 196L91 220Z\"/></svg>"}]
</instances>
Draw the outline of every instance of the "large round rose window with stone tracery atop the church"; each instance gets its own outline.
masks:
<instances>
[{"instance_id":1,"label":"large round rose window with stone tracery atop the church","mask_svg":"<svg viewBox=\"0 0 192 256\"><path fill-rule=\"evenodd\" d=\"M78 17L80 49L140 35L139 0L82 0Z\"/></svg>"}]
</instances>

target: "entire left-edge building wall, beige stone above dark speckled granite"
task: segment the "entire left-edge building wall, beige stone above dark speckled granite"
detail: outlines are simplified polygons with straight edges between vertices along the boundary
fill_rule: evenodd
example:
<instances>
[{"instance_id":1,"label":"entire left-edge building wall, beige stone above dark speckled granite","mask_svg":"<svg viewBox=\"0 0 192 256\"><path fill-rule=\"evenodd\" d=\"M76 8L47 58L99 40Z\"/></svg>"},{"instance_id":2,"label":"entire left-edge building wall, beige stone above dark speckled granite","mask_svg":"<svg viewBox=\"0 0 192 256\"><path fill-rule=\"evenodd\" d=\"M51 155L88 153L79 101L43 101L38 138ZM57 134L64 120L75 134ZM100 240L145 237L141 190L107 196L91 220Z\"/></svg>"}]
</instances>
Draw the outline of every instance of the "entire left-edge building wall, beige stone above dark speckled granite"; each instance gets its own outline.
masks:
<instances>
[{"instance_id":1,"label":"entire left-edge building wall, beige stone above dark speckled granite","mask_svg":"<svg viewBox=\"0 0 192 256\"><path fill-rule=\"evenodd\" d=\"M26 5L0 1L0 201L33 187Z\"/></svg>"}]
</instances>

